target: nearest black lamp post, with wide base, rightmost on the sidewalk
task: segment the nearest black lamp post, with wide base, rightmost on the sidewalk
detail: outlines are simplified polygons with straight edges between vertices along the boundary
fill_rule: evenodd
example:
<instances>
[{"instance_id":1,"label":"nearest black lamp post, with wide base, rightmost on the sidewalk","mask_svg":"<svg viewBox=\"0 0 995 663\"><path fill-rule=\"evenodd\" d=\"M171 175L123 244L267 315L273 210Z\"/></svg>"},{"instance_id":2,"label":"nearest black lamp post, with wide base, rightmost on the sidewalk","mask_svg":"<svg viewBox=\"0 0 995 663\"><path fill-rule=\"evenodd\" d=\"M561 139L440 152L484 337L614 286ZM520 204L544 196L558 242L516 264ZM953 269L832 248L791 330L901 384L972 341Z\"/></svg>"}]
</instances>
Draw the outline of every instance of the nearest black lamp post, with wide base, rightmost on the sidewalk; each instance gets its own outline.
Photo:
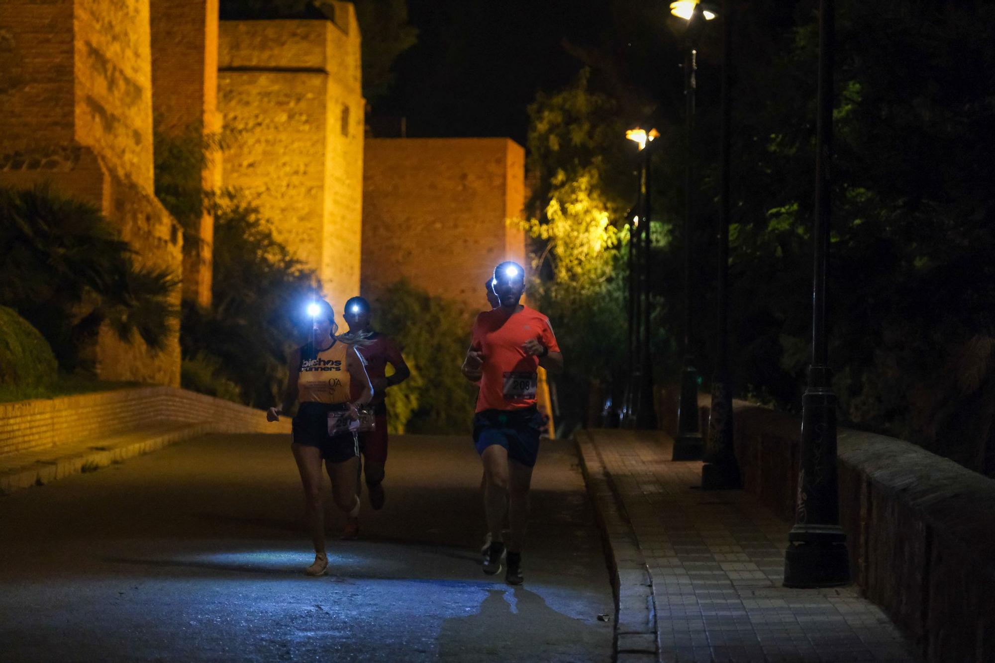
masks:
<instances>
[{"instance_id":1,"label":"nearest black lamp post, with wide base, rightmost on the sidewalk","mask_svg":"<svg viewBox=\"0 0 995 663\"><path fill-rule=\"evenodd\" d=\"M847 537L840 527L836 467L836 394L826 337L830 165L833 154L833 0L819 2L819 98L816 121L815 240L812 278L812 365L802 396L801 467L795 526L784 556L784 585L827 587L850 581Z\"/></svg>"}]
</instances>

